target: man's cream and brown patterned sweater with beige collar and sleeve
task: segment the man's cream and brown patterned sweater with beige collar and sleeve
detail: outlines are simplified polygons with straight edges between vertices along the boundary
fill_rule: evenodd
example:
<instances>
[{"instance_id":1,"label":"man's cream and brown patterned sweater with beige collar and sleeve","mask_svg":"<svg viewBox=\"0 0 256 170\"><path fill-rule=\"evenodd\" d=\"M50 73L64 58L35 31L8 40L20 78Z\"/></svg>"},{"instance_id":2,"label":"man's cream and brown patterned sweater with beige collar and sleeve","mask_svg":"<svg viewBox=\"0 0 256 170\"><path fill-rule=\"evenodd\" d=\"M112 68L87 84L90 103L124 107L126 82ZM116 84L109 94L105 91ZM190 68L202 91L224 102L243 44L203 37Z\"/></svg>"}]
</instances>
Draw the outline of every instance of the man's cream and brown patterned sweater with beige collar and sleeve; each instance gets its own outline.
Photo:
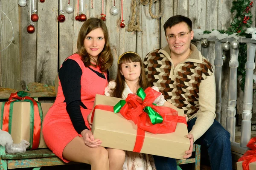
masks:
<instances>
[{"instance_id":1,"label":"man's cream and brown patterned sweater with beige collar and sleeve","mask_svg":"<svg viewBox=\"0 0 256 170\"><path fill-rule=\"evenodd\" d=\"M168 45L151 51L144 68L149 84L157 86L168 102L183 109L189 120L197 117L189 132L195 142L215 119L215 77L212 65L196 46L190 44L190 49L189 57L175 68Z\"/></svg>"}]
</instances>

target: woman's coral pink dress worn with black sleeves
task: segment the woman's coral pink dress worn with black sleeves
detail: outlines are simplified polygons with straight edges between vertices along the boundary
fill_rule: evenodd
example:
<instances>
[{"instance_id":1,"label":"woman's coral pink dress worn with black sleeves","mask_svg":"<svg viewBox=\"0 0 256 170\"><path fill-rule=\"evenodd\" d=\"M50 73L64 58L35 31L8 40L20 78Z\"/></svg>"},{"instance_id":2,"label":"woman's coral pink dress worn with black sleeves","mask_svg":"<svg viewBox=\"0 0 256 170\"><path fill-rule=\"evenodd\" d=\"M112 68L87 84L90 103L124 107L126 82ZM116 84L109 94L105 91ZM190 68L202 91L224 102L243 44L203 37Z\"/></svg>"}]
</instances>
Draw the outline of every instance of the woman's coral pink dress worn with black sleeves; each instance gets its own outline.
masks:
<instances>
[{"instance_id":1,"label":"woman's coral pink dress worn with black sleeves","mask_svg":"<svg viewBox=\"0 0 256 170\"><path fill-rule=\"evenodd\" d=\"M87 116L93 109L93 103L96 94L104 95L105 87L108 85L107 74L102 73L99 67L90 66L87 68L78 54L73 54L67 59L75 60L81 70L81 102L88 109L81 108L81 113L85 121L85 125L89 127ZM105 79L99 77L94 71L104 74ZM66 110L65 97L62 91L61 82L58 82L58 94L52 107L49 109L44 118L43 135L44 141L52 152L62 159L64 162L69 162L63 158L62 153L66 145L79 134L76 132L71 122L70 116Z\"/></svg>"}]
</instances>

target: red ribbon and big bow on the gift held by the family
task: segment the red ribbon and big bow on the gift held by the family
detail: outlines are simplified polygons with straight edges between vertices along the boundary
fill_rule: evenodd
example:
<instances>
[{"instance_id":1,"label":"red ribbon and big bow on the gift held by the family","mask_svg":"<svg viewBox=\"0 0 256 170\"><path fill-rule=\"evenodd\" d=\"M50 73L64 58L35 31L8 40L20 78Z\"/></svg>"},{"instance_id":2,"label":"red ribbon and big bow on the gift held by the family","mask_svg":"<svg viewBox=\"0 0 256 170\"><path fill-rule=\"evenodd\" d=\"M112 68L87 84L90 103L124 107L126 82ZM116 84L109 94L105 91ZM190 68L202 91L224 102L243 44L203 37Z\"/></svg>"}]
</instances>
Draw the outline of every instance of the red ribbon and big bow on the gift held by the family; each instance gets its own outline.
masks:
<instances>
[{"instance_id":1,"label":"red ribbon and big bow on the gift held by the family","mask_svg":"<svg viewBox=\"0 0 256 170\"><path fill-rule=\"evenodd\" d=\"M172 133L175 132L177 122L186 124L184 116L178 116L176 110L169 107L158 107L152 105L155 99L161 95L160 92L147 88L145 90L146 97L142 100L136 94L128 94L125 99L126 104L120 110L125 119L132 120L138 127L137 137L134 145L134 152L140 152L145 139L145 131L151 133ZM163 117L162 123L152 124L147 113L144 112L145 107L151 107L154 111ZM96 105L93 109L91 122L93 122L94 111L96 109L113 112L112 106ZM187 125L187 124L186 124Z\"/></svg>"}]
</instances>

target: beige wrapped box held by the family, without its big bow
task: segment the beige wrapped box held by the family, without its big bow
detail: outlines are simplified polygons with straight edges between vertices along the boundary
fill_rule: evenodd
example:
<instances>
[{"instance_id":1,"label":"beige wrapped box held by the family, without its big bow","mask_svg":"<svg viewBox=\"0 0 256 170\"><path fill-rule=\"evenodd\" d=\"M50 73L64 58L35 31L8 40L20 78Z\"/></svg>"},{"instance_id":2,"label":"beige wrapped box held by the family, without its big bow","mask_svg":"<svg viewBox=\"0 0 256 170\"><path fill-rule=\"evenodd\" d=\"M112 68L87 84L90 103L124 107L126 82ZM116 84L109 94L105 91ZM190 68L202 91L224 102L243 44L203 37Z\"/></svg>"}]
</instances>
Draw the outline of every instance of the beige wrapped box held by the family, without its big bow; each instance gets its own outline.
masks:
<instances>
[{"instance_id":1,"label":"beige wrapped box held by the family, without its big bow","mask_svg":"<svg viewBox=\"0 0 256 170\"><path fill-rule=\"evenodd\" d=\"M189 150L190 146L189 139L186 137L188 134L186 121L177 123L176 130L172 133L153 134L145 131L143 142L143 138L137 136L139 128L134 121L125 119L120 113L106 111L120 100L122 99L96 95L94 105L99 107L94 109L92 132L95 139L102 141L101 146L134 151L137 147L135 145L140 145L136 143L137 140L142 144L140 153L183 159L185 151ZM179 116L183 116L182 109L176 110Z\"/></svg>"}]
</instances>

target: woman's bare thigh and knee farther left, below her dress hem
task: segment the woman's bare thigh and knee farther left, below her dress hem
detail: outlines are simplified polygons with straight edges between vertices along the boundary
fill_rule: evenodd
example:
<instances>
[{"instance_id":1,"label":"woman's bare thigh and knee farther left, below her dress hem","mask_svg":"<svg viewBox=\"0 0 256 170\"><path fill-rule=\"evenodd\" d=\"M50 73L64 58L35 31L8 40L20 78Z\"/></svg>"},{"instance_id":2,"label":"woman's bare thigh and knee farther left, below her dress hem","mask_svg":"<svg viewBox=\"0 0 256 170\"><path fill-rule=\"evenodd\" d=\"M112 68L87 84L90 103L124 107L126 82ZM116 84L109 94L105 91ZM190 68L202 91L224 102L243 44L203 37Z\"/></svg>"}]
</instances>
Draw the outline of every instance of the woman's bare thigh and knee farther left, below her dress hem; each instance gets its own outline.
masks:
<instances>
[{"instance_id":1,"label":"woman's bare thigh and knee farther left, below her dress hem","mask_svg":"<svg viewBox=\"0 0 256 170\"><path fill-rule=\"evenodd\" d=\"M90 148L79 136L67 144L62 155L70 161L90 164L92 170L109 170L108 151L105 147Z\"/></svg>"}]
</instances>

